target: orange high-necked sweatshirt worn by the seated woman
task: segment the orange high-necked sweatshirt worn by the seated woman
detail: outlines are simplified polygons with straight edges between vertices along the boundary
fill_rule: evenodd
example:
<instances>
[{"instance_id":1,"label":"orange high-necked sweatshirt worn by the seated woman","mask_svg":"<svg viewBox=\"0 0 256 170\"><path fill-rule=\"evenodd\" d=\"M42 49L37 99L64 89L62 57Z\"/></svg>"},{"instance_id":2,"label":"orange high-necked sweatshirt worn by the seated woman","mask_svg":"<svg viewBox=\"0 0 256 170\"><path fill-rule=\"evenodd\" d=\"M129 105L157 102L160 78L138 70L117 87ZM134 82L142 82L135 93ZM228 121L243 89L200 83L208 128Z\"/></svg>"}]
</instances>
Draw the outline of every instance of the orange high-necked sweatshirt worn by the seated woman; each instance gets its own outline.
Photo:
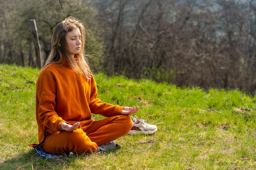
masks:
<instances>
[{"instance_id":1,"label":"orange high-necked sweatshirt worn by the seated woman","mask_svg":"<svg viewBox=\"0 0 256 170\"><path fill-rule=\"evenodd\" d=\"M87 81L80 74L79 79L68 64L48 64L41 71L36 84L36 121L39 144L46 135L61 131L61 123L80 126L94 121L91 113L105 117L120 115L124 107L101 102L97 98L94 77ZM31 144L36 146L36 144Z\"/></svg>"}]
</instances>

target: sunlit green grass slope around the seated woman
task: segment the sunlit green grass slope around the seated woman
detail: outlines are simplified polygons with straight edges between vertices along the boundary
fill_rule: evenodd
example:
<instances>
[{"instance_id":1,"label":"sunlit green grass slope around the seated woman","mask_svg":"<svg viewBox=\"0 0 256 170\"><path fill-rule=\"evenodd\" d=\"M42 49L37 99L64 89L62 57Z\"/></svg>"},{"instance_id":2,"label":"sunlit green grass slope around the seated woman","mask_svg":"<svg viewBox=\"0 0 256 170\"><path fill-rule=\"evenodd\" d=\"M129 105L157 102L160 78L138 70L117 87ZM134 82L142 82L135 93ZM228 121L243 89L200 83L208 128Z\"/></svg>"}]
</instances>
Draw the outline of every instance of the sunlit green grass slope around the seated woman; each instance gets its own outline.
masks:
<instances>
[{"instance_id":1,"label":"sunlit green grass slope around the seated woman","mask_svg":"<svg viewBox=\"0 0 256 170\"><path fill-rule=\"evenodd\" d=\"M255 170L256 97L238 90L179 88L150 80L95 75L99 98L140 106L136 115L154 135L125 135L120 150L58 159L38 156L35 119L40 71L0 65L1 170ZM102 119L93 115L94 119ZM154 143L143 141L153 140Z\"/></svg>"}]
</instances>

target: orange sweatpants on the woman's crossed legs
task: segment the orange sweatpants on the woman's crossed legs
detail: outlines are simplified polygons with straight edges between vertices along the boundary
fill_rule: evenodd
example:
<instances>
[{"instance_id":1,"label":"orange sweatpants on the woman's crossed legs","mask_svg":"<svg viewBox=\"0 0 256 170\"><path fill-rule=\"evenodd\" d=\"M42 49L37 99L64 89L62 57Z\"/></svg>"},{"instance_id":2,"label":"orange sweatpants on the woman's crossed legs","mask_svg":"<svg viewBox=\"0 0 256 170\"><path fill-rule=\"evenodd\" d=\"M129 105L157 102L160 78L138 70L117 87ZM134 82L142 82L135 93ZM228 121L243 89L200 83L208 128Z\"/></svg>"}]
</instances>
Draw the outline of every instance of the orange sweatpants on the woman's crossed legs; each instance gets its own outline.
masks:
<instances>
[{"instance_id":1,"label":"orange sweatpants on the woman's crossed legs","mask_svg":"<svg viewBox=\"0 0 256 170\"><path fill-rule=\"evenodd\" d=\"M123 135L132 128L128 115L115 115L93 121L85 127L72 132L59 131L45 138L41 145L50 154L63 152L89 153L98 150L99 145L106 144Z\"/></svg>"}]
</instances>

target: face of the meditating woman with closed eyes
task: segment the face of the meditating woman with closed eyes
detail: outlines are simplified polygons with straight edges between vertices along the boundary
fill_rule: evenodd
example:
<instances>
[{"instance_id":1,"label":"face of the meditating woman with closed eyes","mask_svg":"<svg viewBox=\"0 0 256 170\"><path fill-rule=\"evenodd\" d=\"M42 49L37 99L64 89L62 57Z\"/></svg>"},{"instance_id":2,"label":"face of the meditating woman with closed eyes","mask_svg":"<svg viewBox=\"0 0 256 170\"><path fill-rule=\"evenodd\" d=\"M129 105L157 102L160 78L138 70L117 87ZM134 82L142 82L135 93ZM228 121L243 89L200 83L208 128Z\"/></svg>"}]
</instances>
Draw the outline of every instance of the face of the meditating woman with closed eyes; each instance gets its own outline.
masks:
<instances>
[{"instance_id":1,"label":"face of the meditating woman with closed eyes","mask_svg":"<svg viewBox=\"0 0 256 170\"><path fill-rule=\"evenodd\" d=\"M73 29L66 34L67 50L75 55L81 50L81 32L79 28Z\"/></svg>"}]
</instances>

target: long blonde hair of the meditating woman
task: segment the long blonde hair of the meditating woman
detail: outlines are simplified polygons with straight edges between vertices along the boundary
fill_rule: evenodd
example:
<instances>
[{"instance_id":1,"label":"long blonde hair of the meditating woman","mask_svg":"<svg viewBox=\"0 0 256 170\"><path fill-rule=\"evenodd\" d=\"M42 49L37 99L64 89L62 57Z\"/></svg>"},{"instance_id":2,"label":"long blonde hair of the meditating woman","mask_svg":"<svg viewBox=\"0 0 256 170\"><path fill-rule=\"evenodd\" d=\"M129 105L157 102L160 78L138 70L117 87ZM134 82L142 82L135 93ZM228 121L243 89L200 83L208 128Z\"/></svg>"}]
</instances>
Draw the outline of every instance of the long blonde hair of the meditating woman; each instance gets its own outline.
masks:
<instances>
[{"instance_id":1,"label":"long blonde hair of the meditating woman","mask_svg":"<svg viewBox=\"0 0 256 170\"><path fill-rule=\"evenodd\" d=\"M67 50L66 34L71 32L73 29L79 28L81 32L81 50L78 53L78 62L74 59L74 56L70 54ZM63 61L63 56L66 58L67 62L70 64L71 68L76 73L76 77L79 77L79 73L89 81L92 77L90 72L88 60L84 54L84 44L85 44L85 27L83 24L74 17L67 17L62 22L58 23L53 31L52 41L51 41L51 52L45 62L45 66L50 63L60 63Z\"/></svg>"}]
</instances>

